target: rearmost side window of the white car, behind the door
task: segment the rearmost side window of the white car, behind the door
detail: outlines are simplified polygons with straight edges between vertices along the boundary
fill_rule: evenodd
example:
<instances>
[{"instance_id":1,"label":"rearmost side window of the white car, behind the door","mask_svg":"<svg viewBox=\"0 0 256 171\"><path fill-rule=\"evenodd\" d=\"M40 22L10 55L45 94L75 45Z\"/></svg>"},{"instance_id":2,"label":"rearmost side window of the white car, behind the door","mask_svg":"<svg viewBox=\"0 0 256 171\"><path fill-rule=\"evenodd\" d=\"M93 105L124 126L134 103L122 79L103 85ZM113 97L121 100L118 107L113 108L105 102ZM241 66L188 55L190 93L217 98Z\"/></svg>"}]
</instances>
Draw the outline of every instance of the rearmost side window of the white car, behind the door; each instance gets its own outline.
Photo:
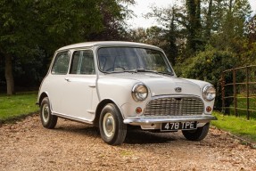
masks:
<instances>
[{"instance_id":1,"label":"rearmost side window of the white car, behind the door","mask_svg":"<svg viewBox=\"0 0 256 171\"><path fill-rule=\"evenodd\" d=\"M68 73L70 64L70 55L68 51L58 53L55 57L52 74L65 75Z\"/></svg>"}]
</instances>

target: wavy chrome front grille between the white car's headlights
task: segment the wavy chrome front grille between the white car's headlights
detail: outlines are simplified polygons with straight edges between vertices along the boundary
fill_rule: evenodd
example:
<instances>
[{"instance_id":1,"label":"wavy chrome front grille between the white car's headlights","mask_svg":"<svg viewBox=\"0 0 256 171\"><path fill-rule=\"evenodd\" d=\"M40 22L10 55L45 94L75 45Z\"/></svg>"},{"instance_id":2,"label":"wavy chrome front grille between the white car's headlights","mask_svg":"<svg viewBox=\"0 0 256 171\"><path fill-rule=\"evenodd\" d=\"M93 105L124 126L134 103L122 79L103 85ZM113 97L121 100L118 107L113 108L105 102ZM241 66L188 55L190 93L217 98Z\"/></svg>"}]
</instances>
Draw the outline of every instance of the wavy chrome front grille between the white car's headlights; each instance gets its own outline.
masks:
<instances>
[{"instance_id":1,"label":"wavy chrome front grille between the white car's headlights","mask_svg":"<svg viewBox=\"0 0 256 171\"><path fill-rule=\"evenodd\" d=\"M195 97L164 97L146 105L145 116L191 116L202 115L203 103Z\"/></svg>"}]
</instances>

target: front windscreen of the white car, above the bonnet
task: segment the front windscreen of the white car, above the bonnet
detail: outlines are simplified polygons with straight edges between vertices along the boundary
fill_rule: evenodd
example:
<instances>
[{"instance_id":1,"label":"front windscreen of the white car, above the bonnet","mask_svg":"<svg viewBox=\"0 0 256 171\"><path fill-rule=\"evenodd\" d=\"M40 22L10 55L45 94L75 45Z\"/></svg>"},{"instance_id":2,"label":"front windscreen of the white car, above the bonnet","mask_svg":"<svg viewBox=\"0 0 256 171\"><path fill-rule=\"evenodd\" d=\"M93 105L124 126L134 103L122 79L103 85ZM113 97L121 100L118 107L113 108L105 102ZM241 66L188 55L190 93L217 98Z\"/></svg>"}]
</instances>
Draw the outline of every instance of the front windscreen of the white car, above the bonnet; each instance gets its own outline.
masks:
<instances>
[{"instance_id":1,"label":"front windscreen of the white car, above the bonnet","mask_svg":"<svg viewBox=\"0 0 256 171\"><path fill-rule=\"evenodd\" d=\"M102 72L153 71L173 75L161 51L138 47L102 47L98 50Z\"/></svg>"}]
</instances>

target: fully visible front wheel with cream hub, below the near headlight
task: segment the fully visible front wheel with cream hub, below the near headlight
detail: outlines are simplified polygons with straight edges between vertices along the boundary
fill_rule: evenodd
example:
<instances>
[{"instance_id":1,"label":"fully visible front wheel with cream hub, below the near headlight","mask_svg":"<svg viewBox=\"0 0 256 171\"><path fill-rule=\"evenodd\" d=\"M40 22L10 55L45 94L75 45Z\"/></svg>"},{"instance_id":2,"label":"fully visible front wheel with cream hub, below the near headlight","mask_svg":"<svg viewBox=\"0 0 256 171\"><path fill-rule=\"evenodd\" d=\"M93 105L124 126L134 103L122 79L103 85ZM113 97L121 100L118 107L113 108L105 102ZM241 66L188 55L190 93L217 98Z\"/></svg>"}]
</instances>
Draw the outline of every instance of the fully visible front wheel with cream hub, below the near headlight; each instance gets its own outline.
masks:
<instances>
[{"instance_id":1,"label":"fully visible front wheel with cream hub, below the near headlight","mask_svg":"<svg viewBox=\"0 0 256 171\"><path fill-rule=\"evenodd\" d=\"M112 103L103 108L99 128L103 141L110 145L120 145L126 138L127 125L123 123L120 110Z\"/></svg>"}]
</instances>

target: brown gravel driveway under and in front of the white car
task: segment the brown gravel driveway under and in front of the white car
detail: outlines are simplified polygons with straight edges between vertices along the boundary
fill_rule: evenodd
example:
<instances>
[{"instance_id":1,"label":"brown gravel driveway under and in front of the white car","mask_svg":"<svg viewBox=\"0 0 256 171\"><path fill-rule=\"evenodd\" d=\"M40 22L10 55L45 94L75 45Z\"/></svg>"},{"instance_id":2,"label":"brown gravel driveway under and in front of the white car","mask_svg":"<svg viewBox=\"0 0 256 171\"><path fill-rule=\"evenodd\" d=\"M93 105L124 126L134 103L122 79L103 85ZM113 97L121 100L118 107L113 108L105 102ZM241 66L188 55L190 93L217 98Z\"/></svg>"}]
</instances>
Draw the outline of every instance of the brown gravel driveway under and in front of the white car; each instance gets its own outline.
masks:
<instances>
[{"instance_id":1,"label":"brown gravel driveway under and in front of the white car","mask_svg":"<svg viewBox=\"0 0 256 171\"><path fill-rule=\"evenodd\" d=\"M213 127L202 142L133 130L122 145L110 146L95 127L59 118L49 130L34 115L0 127L0 169L256 170L256 150Z\"/></svg>"}]
</instances>

